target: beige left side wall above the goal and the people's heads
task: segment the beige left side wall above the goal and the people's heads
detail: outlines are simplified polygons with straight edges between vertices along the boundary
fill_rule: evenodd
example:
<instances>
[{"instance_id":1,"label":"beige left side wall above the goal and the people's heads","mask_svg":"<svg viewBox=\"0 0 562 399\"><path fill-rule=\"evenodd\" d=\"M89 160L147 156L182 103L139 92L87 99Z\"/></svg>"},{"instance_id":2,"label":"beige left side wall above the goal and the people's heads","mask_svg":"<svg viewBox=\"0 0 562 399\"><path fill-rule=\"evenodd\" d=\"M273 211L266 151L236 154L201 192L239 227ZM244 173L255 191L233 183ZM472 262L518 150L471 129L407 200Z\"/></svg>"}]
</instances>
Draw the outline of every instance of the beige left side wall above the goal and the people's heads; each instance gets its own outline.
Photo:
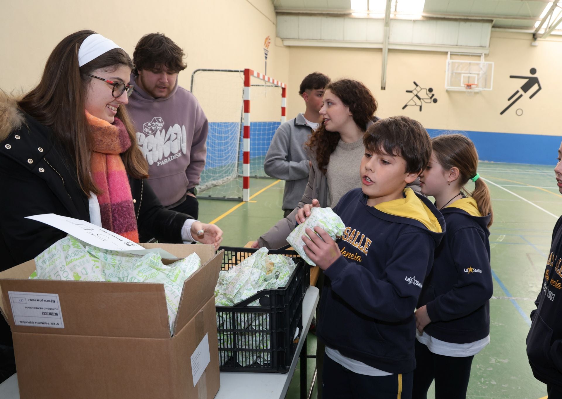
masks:
<instances>
[{"instance_id":1,"label":"beige left side wall above the goal and the people's heads","mask_svg":"<svg viewBox=\"0 0 562 399\"><path fill-rule=\"evenodd\" d=\"M52 49L80 29L103 34L131 56L143 34L166 34L187 55L188 67L180 73L179 84L188 89L191 73L198 68L264 72L262 48L269 35L268 75L288 80L289 51L275 38L270 0L21 0L3 2L2 15L0 89L7 92L37 84ZM279 108L275 115L280 115Z\"/></svg>"}]
</instances>

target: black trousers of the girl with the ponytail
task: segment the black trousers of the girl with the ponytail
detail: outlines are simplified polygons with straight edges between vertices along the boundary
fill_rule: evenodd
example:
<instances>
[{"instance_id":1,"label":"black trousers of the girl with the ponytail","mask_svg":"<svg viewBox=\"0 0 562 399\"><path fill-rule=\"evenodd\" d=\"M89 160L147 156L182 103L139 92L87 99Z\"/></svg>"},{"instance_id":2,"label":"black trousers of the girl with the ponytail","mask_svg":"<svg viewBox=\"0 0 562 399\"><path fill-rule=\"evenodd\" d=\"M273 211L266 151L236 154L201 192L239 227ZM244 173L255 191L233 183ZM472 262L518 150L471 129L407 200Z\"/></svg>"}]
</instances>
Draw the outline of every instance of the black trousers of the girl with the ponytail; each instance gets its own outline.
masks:
<instances>
[{"instance_id":1,"label":"black trousers of the girl with the ponytail","mask_svg":"<svg viewBox=\"0 0 562 399\"><path fill-rule=\"evenodd\" d=\"M427 391L435 379L435 399L464 399L474 356L436 355L416 339L414 399L427 399Z\"/></svg>"}]
</instances>

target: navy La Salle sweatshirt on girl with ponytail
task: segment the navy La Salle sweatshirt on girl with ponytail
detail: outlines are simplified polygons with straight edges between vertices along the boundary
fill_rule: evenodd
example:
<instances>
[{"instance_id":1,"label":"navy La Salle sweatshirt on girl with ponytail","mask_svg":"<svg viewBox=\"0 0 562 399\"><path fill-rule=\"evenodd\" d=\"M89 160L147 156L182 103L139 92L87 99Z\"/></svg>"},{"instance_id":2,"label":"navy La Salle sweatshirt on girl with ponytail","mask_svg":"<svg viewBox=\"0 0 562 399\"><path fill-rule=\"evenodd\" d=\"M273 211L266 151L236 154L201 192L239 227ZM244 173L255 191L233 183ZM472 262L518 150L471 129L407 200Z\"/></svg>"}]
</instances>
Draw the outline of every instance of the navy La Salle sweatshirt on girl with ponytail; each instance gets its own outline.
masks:
<instances>
[{"instance_id":1,"label":"navy La Salle sweatshirt on girl with ponytail","mask_svg":"<svg viewBox=\"0 0 562 399\"><path fill-rule=\"evenodd\" d=\"M424 331L452 343L470 343L490 334L493 293L488 223L474 198L461 198L441 210L447 233L418 302L431 323Z\"/></svg>"}]
</instances>

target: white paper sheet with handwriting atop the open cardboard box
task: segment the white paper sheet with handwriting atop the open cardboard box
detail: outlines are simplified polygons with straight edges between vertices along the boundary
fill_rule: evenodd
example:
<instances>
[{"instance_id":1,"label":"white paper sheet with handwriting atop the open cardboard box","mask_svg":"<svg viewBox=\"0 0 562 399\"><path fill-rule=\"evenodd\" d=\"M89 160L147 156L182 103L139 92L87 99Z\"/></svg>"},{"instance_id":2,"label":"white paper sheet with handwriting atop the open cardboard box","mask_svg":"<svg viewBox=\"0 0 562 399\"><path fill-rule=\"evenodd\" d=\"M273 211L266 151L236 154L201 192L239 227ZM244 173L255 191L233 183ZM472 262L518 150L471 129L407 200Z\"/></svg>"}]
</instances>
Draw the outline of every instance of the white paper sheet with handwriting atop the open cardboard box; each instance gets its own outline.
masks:
<instances>
[{"instance_id":1,"label":"white paper sheet with handwriting atop the open cardboard box","mask_svg":"<svg viewBox=\"0 0 562 399\"><path fill-rule=\"evenodd\" d=\"M44 214L28 216L26 219L37 220L49 226L56 227L63 232L69 233L72 237L78 238L80 241L87 242L94 247L103 248L104 250L144 250L139 244L130 241L130 239L122 235L110 232L110 230L88 223L87 221L74 219L73 217Z\"/></svg>"}]
</instances>

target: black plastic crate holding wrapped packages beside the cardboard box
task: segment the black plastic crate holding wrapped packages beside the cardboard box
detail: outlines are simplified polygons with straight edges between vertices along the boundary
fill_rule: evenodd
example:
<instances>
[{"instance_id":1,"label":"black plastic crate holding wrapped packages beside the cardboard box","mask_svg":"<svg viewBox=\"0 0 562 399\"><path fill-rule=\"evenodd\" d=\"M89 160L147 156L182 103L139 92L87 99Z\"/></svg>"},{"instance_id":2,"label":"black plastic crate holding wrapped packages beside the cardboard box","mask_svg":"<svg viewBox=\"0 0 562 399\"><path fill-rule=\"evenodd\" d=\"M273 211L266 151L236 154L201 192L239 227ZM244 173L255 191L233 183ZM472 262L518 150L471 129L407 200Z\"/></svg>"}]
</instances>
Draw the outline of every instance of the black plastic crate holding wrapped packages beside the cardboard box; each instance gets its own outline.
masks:
<instances>
[{"instance_id":1,"label":"black plastic crate holding wrapped packages beside the cardboard box","mask_svg":"<svg viewBox=\"0 0 562 399\"><path fill-rule=\"evenodd\" d=\"M222 270L238 265L257 250L220 247ZM269 250L292 257L296 267L283 288L263 289L234 306L216 306L220 371L287 373L302 336L302 300L310 285L310 266L294 251ZM247 306L260 300L261 306ZM295 337L295 334L298 334Z\"/></svg>"}]
</instances>

